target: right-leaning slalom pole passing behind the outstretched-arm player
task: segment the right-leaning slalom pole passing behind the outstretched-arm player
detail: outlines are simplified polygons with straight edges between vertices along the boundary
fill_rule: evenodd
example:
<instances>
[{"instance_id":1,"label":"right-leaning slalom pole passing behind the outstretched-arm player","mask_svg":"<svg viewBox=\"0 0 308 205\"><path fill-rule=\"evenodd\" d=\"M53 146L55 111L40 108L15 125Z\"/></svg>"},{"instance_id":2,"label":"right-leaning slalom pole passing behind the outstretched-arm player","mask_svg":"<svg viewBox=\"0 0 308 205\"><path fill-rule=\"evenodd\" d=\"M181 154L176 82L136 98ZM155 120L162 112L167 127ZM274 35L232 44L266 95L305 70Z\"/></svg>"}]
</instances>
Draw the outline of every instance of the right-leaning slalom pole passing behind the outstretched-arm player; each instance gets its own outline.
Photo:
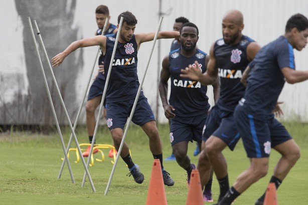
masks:
<instances>
[{"instance_id":1,"label":"right-leaning slalom pole passing behind the outstretched-arm player","mask_svg":"<svg viewBox=\"0 0 308 205\"><path fill-rule=\"evenodd\" d=\"M106 21L105 21L105 24L104 24L104 27L103 27L103 30L102 30L102 34L101 34L102 36L105 34L105 30L107 28L108 22L109 22L109 18L107 18ZM93 74L93 71L94 71L94 68L95 68L95 65L96 65L99 50L100 50L100 46L97 46L97 53L96 53L95 60L94 60L94 63L93 63L93 67L92 67L92 70L91 70L91 73L90 73L90 76L89 76L89 79L88 79L88 83L87 83L87 86L86 86L87 89L84 92L84 95L83 95L83 98L82 98L83 100L81 101L81 104L79 106L79 110L77 112L77 116L76 116L76 119L75 119L75 123L74 123L74 127L73 127L74 131L75 131L77 123L78 123L78 119L79 119L79 116L80 116L80 113L81 113L81 110L82 110L82 107L83 107L84 100L85 100L86 95L87 95L88 90L89 90L89 85L90 85L90 82L91 82L91 79L92 79L92 74ZM68 140L66 153L69 152L69 149L70 149L70 146L71 146L71 143L72 143L72 139L73 139L73 134L71 133L70 139ZM61 168L60 168L60 171L59 171L58 178L61 177L61 174L62 174L62 171L63 171L63 168L64 168L64 164L65 164L65 158L63 159L63 162L61 164Z\"/></svg>"}]
</instances>

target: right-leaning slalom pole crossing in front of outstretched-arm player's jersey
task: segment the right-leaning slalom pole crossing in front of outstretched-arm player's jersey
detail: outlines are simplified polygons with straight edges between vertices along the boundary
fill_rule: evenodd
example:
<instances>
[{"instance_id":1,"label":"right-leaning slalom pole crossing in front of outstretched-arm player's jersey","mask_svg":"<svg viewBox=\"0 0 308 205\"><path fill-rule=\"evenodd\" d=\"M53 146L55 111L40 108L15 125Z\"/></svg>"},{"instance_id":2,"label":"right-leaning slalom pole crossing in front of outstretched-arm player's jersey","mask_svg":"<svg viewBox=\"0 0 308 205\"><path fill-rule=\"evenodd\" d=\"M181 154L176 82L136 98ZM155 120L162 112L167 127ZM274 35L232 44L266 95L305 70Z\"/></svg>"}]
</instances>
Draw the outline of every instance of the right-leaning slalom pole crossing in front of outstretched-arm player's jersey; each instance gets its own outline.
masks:
<instances>
[{"instance_id":1,"label":"right-leaning slalom pole crossing in front of outstretched-arm player's jersey","mask_svg":"<svg viewBox=\"0 0 308 205\"><path fill-rule=\"evenodd\" d=\"M119 39L119 36L120 36L123 18L124 18L124 15L121 15L119 28L118 28L116 38L115 38L115 42L114 42L114 46L113 46L113 51L112 51L112 56L111 56L111 60L110 60L110 64L109 64L109 69L108 69L108 73L107 73L107 76L106 76L106 82L105 82L105 87L104 87L104 91L103 91L102 101L101 101L100 106L99 106L99 111L98 111L95 129L94 129L93 139L92 139L90 152L89 152L89 156L88 156L88 161L87 161L87 167L89 167L90 160L91 160L91 154L92 154L92 150L93 150L93 146L94 146L94 142L95 142L95 137L96 137L96 133L97 133L97 129L98 129L99 118L100 118L100 115L101 115L101 112L102 112L102 108L104 106L104 100L105 100L105 96L106 96L107 86L108 86L108 83L109 83L110 73L111 73L111 69L112 69L112 62L113 62L113 59L114 59L118 39ZM85 180L86 180L86 173L84 173L84 175L83 175L83 179L82 179L82 183L81 183L82 187L84 186Z\"/></svg>"}]
</instances>

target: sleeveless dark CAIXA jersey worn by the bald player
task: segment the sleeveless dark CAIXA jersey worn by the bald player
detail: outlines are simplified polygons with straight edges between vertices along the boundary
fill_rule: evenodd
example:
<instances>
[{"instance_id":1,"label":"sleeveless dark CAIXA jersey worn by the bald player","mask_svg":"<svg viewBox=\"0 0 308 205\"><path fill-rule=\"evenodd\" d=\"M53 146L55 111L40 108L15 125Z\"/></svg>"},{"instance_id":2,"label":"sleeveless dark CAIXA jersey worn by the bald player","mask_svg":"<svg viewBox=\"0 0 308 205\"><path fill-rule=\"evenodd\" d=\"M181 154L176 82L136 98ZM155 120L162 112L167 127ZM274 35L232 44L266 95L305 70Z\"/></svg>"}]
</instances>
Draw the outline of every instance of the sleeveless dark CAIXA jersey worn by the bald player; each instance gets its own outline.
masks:
<instances>
[{"instance_id":1,"label":"sleeveless dark CAIXA jersey worn by the bald player","mask_svg":"<svg viewBox=\"0 0 308 205\"><path fill-rule=\"evenodd\" d=\"M240 80L249 63L246 50L251 42L254 40L242 35L237 45L225 44L223 39L217 40L214 44L214 56L220 77L220 97L217 106L222 110L233 112L244 95L245 86Z\"/></svg>"}]
</instances>

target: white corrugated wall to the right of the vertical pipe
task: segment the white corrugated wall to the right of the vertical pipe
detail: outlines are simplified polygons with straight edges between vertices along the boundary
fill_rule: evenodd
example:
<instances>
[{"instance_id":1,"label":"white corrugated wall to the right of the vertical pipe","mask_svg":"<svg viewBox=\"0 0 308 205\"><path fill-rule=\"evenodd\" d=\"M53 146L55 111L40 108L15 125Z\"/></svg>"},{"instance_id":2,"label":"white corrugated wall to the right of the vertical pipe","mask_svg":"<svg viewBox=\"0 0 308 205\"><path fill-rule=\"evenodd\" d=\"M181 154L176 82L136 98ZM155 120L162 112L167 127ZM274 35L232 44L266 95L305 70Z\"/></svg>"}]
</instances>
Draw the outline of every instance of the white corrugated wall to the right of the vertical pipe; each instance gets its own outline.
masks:
<instances>
[{"instance_id":1,"label":"white corrugated wall to the right of the vertical pipe","mask_svg":"<svg viewBox=\"0 0 308 205\"><path fill-rule=\"evenodd\" d=\"M290 16L301 13L308 16L308 1L305 0L213 0L213 1L163 1L163 11L172 8L172 13L164 21L172 25L179 16L188 18L199 28L199 48L209 52L211 44L222 37L221 22L226 11L240 10L244 15L243 34L257 41L261 46L284 34L286 21ZM165 22L165 23L166 23ZM165 24L166 25L166 24ZM168 27L163 27L168 29ZM168 50L168 45L162 49ZM297 70L307 70L308 49L294 51ZM283 101L284 120L307 121L308 82L295 85L285 84L279 97Z\"/></svg>"}]
</instances>

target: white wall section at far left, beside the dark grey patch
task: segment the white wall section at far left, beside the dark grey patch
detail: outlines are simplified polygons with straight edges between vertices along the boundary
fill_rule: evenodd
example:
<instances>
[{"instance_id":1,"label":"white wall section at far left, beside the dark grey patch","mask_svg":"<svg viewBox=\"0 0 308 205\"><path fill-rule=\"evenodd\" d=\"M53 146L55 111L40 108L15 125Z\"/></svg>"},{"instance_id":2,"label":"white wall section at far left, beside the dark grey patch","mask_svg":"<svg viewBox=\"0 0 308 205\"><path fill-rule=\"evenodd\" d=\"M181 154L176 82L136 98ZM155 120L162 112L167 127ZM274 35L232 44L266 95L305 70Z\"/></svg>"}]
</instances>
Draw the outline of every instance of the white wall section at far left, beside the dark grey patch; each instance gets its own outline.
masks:
<instances>
[{"instance_id":1,"label":"white wall section at far left, beside the dark grey patch","mask_svg":"<svg viewBox=\"0 0 308 205\"><path fill-rule=\"evenodd\" d=\"M23 53L23 24L17 15L14 1L4 0L0 2L0 76L6 74L7 78L13 75L20 75L21 85L11 81L4 84L5 80L0 80L1 101L12 101L13 93L21 89L23 94L27 93L28 79L26 77L26 64ZM6 96L4 96L6 95ZM1 103L0 103L1 105Z\"/></svg>"}]
</instances>

